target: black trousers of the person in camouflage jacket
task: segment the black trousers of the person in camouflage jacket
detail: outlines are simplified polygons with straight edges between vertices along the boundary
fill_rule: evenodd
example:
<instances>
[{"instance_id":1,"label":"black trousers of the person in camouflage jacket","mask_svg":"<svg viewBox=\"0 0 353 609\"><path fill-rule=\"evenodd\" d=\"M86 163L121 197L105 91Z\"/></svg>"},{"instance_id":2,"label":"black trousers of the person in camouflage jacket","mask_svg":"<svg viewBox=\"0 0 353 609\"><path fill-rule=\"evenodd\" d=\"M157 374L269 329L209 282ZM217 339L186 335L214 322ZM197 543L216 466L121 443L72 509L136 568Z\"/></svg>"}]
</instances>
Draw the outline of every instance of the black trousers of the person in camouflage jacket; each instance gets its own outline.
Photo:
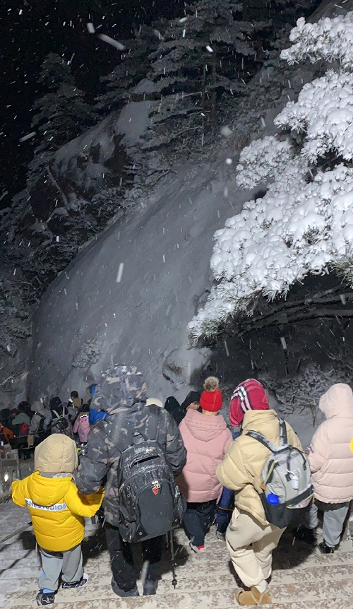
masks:
<instances>
[{"instance_id":1,"label":"black trousers of the person in camouflage jacket","mask_svg":"<svg viewBox=\"0 0 353 609\"><path fill-rule=\"evenodd\" d=\"M123 541L119 528L105 522L105 536L110 555L113 579L121 590L128 592L136 586L136 571L133 567L131 544ZM163 537L154 537L142 542L143 562L157 564L162 558Z\"/></svg>"}]
</instances>

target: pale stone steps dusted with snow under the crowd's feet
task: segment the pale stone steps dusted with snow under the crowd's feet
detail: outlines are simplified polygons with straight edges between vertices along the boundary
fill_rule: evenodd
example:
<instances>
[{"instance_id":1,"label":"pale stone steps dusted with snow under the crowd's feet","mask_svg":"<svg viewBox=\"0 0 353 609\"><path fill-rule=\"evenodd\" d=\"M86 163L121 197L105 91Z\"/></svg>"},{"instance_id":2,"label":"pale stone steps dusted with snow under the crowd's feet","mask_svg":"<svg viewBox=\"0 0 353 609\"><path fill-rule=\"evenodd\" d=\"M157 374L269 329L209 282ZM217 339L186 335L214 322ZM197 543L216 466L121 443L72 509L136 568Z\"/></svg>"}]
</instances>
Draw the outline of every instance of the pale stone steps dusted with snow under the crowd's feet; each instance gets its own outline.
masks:
<instances>
[{"instance_id":1,"label":"pale stone steps dusted with snow under the crowd's feet","mask_svg":"<svg viewBox=\"0 0 353 609\"><path fill-rule=\"evenodd\" d=\"M0 540L29 521L28 512L13 504L0 505ZM195 555L183 531L175 533L177 588L167 550L162 562L162 581L156 596L123 599L110 586L109 557L102 530L88 531L83 543L88 584L78 590L60 590L58 609L232 609L237 606L234 578L224 542L213 527L206 538L207 552ZM0 606L35 608L40 560L35 552L32 529L6 540L0 546ZM139 586L140 587L140 586ZM297 540L287 531L274 553L270 584L273 609L353 609L352 542L345 540L333 555Z\"/></svg>"}]
</instances>

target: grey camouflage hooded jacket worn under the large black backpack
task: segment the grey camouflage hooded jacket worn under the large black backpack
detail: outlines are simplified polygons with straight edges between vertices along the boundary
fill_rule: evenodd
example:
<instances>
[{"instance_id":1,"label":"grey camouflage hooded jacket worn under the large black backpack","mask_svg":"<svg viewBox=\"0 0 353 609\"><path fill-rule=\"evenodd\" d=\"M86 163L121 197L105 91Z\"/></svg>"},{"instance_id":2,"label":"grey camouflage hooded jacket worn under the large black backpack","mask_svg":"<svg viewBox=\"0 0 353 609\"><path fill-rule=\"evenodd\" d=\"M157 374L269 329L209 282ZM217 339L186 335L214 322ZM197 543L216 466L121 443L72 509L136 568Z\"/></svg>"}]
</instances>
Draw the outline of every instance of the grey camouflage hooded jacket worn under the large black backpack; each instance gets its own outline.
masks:
<instances>
[{"instance_id":1,"label":"grey camouflage hooded jacket worn under the large black backpack","mask_svg":"<svg viewBox=\"0 0 353 609\"><path fill-rule=\"evenodd\" d=\"M157 440L177 477L186 463L186 449L177 423L163 408L145 406L145 383L136 368L115 365L102 374L92 401L109 417L93 427L85 454L75 475L78 490L89 495L105 481L104 516L116 526L117 471L121 452L138 431ZM156 425L157 418L157 425ZM157 426L157 437L152 432Z\"/></svg>"}]
</instances>

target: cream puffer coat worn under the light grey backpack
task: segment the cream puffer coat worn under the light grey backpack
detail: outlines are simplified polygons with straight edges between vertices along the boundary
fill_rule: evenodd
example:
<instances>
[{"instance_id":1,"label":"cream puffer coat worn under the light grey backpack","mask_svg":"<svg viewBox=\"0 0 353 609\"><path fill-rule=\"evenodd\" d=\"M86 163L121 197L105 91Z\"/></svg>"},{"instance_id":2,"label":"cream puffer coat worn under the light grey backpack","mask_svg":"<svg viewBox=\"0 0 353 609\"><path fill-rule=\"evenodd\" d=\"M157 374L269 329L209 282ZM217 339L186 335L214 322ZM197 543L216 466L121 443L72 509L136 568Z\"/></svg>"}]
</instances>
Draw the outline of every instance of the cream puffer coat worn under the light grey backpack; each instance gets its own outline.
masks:
<instances>
[{"instance_id":1,"label":"cream puffer coat worn under the light grey backpack","mask_svg":"<svg viewBox=\"0 0 353 609\"><path fill-rule=\"evenodd\" d=\"M287 422L286 427L288 443L302 450L297 434ZM244 415L243 432L230 445L216 475L222 485L235 491L237 509L268 525L258 493L261 492L261 473L270 451L246 436L249 431L260 432L273 444L280 445L280 423L275 410L248 410Z\"/></svg>"}]
</instances>

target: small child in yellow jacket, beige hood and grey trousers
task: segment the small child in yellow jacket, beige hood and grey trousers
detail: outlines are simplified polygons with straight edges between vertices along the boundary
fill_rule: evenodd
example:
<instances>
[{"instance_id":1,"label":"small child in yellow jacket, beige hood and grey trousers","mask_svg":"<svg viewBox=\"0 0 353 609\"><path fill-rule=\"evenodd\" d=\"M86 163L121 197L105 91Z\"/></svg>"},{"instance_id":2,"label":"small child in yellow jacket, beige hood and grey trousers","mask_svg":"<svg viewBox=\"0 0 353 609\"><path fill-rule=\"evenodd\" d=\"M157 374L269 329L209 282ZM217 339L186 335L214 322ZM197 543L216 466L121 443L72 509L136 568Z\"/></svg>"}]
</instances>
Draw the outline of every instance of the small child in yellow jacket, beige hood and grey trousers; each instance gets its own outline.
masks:
<instances>
[{"instance_id":1,"label":"small child in yellow jacket, beige hood and grey trousers","mask_svg":"<svg viewBox=\"0 0 353 609\"><path fill-rule=\"evenodd\" d=\"M75 442L52 434L35 449L35 472L12 484L13 502L28 507L40 550L37 605L54 603L60 574L63 588L79 588L88 581L81 550L83 519L100 508L103 492L80 495L72 479L77 467Z\"/></svg>"}]
</instances>

